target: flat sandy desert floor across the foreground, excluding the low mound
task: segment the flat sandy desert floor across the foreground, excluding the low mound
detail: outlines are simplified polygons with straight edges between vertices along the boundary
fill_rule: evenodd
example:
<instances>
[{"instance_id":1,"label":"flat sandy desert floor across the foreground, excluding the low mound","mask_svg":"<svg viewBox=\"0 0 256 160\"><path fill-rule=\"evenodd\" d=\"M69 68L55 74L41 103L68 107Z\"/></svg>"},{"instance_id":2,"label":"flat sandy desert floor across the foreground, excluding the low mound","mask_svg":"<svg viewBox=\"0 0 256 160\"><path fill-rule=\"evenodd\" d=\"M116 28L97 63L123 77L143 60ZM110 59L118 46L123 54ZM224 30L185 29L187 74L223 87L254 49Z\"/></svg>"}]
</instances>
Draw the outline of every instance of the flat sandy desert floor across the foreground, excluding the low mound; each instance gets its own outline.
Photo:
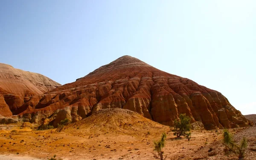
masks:
<instances>
[{"instance_id":1,"label":"flat sandy desert floor across the foreground, excluding the low mound","mask_svg":"<svg viewBox=\"0 0 256 160\"><path fill-rule=\"evenodd\" d=\"M153 160L154 140L167 133L164 154L166 160L233 160L224 155L222 130L192 131L192 138L175 139L169 127L162 126L148 132L85 132L70 126L61 132L43 131L20 126L0 126L0 160L47 160L54 154L63 160ZM256 159L256 127L230 129L239 141L248 139L245 160ZM209 149L212 151L209 152Z\"/></svg>"}]
</instances>

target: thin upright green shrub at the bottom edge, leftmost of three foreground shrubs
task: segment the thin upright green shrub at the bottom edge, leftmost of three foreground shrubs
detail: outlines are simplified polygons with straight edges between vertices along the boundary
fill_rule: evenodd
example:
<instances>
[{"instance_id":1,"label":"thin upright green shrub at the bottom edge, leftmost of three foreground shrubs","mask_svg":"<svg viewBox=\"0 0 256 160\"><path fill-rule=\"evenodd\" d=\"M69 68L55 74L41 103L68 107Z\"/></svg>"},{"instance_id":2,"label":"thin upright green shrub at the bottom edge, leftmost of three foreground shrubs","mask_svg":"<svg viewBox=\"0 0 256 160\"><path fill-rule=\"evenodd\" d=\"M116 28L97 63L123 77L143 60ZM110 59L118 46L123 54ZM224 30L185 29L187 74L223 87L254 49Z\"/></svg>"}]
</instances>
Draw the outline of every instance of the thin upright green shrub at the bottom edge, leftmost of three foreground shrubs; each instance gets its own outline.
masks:
<instances>
[{"instance_id":1,"label":"thin upright green shrub at the bottom edge, leftmost of three foreground shrubs","mask_svg":"<svg viewBox=\"0 0 256 160\"><path fill-rule=\"evenodd\" d=\"M162 151L165 140L166 140L166 133L163 133L162 138L160 140L154 141L154 150L157 151L157 154L153 153L155 159L160 159L160 160L166 159L167 155L164 156Z\"/></svg>"}]
</instances>

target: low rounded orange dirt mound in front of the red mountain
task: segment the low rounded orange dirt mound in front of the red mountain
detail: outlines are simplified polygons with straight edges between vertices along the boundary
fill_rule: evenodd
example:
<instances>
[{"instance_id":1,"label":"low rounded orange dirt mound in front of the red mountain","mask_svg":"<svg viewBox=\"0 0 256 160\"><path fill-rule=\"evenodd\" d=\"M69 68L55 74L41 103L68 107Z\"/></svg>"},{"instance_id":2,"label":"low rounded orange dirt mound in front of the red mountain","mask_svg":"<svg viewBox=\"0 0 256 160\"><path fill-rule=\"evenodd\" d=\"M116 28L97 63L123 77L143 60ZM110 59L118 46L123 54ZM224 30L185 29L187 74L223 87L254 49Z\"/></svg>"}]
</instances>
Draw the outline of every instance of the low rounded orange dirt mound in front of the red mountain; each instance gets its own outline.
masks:
<instances>
[{"instance_id":1,"label":"low rounded orange dirt mound in front of the red mountain","mask_svg":"<svg viewBox=\"0 0 256 160\"><path fill-rule=\"evenodd\" d=\"M120 108L99 110L81 121L70 124L67 126L67 131L76 132L77 128L84 134L108 132L142 134L169 129L168 126L158 124L137 112Z\"/></svg>"}]
</instances>

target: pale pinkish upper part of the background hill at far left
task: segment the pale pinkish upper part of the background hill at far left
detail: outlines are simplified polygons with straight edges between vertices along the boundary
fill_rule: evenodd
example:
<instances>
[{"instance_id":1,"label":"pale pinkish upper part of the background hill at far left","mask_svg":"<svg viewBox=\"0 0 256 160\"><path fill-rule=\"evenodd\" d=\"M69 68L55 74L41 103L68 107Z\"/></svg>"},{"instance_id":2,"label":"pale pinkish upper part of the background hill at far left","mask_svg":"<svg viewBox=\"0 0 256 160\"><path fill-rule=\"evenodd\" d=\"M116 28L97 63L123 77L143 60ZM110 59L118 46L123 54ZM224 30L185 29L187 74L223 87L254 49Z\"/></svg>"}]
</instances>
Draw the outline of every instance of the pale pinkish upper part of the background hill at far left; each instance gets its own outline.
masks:
<instances>
[{"instance_id":1,"label":"pale pinkish upper part of the background hill at far left","mask_svg":"<svg viewBox=\"0 0 256 160\"><path fill-rule=\"evenodd\" d=\"M43 94L59 86L61 84L41 74L0 63L0 87L9 93L29 97Z\"/></svg>"}]
</instances>

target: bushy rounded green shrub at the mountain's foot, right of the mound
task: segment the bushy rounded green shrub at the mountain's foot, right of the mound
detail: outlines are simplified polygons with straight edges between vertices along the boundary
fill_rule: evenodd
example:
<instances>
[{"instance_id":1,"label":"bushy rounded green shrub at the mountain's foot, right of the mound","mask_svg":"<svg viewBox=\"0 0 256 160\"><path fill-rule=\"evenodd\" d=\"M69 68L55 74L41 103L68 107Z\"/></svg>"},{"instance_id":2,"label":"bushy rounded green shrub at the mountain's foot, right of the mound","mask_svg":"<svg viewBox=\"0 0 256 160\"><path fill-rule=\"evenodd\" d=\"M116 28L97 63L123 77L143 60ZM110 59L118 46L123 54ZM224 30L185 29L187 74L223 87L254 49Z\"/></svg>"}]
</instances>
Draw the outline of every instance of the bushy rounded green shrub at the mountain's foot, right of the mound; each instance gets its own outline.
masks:
<instances>
[{"instance_id":1,"label":"bushy rounded green shrub at the mountain's foot, right of the mound","mask_svg":"<svg viewBox=\"0 0 256 160\"><path fill-rule=\"evenodd\" d=\"M180 136L185 136L190 131L190 118L186 114L180 114L180 120L175 119L174 129L172 129L173 135L176 135L177 138Z\"/></svg>"}]
</instances>

